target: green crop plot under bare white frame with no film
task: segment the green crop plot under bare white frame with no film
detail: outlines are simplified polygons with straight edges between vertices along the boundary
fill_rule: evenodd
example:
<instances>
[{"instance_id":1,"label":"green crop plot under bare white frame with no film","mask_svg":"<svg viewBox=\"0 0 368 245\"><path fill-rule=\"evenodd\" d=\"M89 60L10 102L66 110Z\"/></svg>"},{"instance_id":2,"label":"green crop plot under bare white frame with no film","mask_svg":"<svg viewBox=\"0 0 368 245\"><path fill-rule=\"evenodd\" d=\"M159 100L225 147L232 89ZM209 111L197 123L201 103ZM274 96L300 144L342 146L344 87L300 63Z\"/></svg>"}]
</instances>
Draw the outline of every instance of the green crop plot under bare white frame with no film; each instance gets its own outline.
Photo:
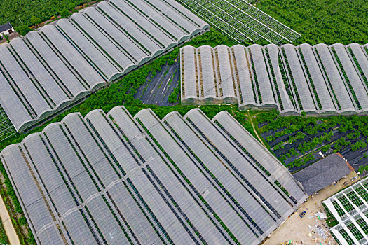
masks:
<instances>
[{"instance_id":1,"label":"green crop plot under bare white frame with no film","mask_svg":"<svg viewBox=\"0 0 368 245\"><path fill-rule=\"evenodd\" d=\"M239 43L289 43L300 34L243 0L177 0Z\"/></svg>"}]
</instances>

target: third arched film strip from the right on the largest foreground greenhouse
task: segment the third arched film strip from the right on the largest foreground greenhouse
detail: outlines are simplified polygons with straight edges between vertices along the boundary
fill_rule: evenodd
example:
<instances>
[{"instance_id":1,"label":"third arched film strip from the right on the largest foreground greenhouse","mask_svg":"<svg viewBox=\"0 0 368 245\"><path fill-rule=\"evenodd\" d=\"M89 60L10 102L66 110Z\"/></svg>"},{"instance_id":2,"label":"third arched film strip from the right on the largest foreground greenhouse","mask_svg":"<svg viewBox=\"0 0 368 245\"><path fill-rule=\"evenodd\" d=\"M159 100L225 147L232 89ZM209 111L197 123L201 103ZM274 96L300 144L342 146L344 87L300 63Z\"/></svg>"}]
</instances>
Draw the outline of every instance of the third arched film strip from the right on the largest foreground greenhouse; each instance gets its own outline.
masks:
<instances>
[{"instance_id":1,"label":"third arched film strip from the right on the largest foreground greenhouse","mask_svg":"<svg viewBox=\"0 0 368 245\"><path fill-rule=\"evenodd\" d=\"M276 224L273 217L261 208L261 205L257 202L257 197L252 196L236 177L226 170L226 167L222 165L222 160L213 154L213 149L203 144L200 135L195 133L195 130L185 122L179 113L170 114L168 119L164 119L164 121L168 124L170 131L177 134L175 136L183 142L185 148L192 151L193 156L196 155L199 158L202 165L200 169L210 176L212 176L211 174L214 175L212 181L217 182L217 188L220 189L220 186L223 186L224 190L229 192L229 197L238 202L238 209L243 212L247 224L257 235L265 237L268 232L275 229ZM254 221L254 223L250 221Z\"/></svg>"}]
</instances>

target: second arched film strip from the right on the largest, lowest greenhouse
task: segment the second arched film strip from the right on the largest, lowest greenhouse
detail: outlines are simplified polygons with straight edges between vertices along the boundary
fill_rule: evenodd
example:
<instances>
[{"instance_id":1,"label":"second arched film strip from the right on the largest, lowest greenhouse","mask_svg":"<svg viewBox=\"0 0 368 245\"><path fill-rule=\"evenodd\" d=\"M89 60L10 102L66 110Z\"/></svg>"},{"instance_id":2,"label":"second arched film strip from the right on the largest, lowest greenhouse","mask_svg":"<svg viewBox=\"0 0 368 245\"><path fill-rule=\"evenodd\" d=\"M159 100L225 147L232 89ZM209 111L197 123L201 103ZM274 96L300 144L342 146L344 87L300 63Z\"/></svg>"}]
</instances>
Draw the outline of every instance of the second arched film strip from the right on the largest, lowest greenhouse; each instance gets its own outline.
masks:
<instances>
[{"instance_id":1,"label":"second arched film strip from the right on the largest, lowest greenhouse","mask_svg":"<svg viewBox=\"0 0 368 245\"><path fill-rule=\"evenodd\" d=\"M264 172L262 167L257 165L257 161L252 160L252 155L240 151L229 139L230 137L221 132L202 111L192 109L186 113L185 118L193 127L196 127L199 134L203 134L207 141L212 142L212 148L217 149L226 166L241 179L241 183L247 187L247 190L259 196L264 202L265 210L279 221L283 221L292 214L294 209L285 197L285 193L274 183L273 176Z\"/></svg>"}]
</instances>

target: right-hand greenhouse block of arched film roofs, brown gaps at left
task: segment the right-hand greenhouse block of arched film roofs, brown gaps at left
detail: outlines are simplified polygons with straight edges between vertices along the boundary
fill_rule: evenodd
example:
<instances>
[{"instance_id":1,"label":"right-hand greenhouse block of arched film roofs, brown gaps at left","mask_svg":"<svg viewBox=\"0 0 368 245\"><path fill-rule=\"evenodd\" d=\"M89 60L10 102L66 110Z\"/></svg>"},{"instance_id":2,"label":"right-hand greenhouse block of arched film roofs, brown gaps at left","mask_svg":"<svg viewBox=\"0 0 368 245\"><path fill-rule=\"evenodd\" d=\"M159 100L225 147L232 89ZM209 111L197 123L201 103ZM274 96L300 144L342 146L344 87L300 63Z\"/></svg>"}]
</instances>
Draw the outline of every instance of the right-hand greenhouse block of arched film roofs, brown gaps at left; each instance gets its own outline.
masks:
<instances>
[{"instance_id":1,"label":"right-hand greenhouse block of arched film roofs, brown gaps at left","mask_svg":"<svg viewBox=\"0 0 368 245\"><path fill-rule=\"evenodd\" d=\"M182 104L285 115L368 113L368 45L204 45L180 50Z\"/></svg>"}]
</instances>

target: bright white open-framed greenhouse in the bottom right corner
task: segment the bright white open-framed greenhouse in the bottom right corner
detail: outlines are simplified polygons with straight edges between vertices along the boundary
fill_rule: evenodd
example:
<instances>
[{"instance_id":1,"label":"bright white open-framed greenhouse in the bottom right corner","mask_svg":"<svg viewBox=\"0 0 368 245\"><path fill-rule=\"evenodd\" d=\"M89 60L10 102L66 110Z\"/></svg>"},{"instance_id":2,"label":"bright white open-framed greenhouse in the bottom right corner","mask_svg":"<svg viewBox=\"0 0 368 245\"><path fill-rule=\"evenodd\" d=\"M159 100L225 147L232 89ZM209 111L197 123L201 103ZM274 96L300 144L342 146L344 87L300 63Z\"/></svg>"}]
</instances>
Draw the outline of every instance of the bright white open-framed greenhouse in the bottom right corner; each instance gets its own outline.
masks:
<instances>
[{"instance_id":1,"label":"bright white open-framed greenhouse in the bottom right corner","mask_svg":"<svg viewBox=\"0 0 368 245\"><path fill-rule=\"evenodd\" d=\"M336 193L323 204L336 219L336 225L330 231L339 244L367 244L368 179Z\"/></svg>"}]
</instances>

